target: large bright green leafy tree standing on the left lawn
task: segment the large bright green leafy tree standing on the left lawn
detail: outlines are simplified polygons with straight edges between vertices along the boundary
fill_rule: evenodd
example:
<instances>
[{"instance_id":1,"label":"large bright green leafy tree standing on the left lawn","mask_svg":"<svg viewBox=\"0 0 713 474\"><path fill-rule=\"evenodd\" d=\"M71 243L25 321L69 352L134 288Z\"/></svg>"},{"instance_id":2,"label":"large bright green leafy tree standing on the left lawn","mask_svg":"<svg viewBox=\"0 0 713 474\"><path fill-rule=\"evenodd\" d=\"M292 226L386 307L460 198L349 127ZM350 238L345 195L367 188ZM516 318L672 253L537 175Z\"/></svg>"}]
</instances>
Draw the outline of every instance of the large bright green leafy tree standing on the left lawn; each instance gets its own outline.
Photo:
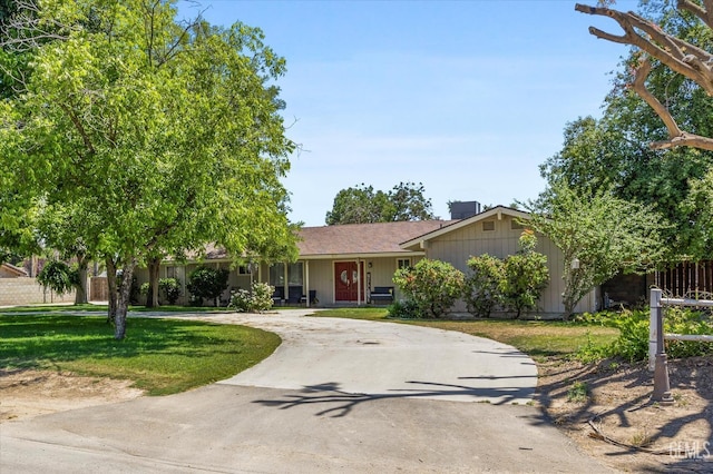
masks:
<instances>
[{"instance_id":1,"label":"large bright green leafy tree standing on the left lawn","mask_svg":"<svg viewBox=\"0 0 713 474\"><path fill-rule=\"evenodd\" d=\"M4 36L33 60L0 106L0 160L25 195L81 207L79 236L117 295L116 338L134 269L158 251L213 241L237 257L294 255L281 184L293 144L274 85L284 59L260 30L184 23L174 1L29 4L37 21Z\"/></svg>"}]
</instances>

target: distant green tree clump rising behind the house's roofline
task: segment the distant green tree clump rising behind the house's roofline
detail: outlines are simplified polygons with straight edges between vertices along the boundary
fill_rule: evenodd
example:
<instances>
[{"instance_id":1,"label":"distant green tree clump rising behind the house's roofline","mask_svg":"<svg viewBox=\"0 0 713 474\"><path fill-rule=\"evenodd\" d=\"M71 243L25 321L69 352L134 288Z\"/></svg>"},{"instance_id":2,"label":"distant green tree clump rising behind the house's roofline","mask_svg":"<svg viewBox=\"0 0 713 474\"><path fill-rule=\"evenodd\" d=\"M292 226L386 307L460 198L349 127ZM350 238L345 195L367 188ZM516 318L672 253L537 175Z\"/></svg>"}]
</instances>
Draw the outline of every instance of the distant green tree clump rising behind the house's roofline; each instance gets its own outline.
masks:
<instances>
[{"instance_id":1,"label":"distant green tree clump rising behind the house's roofline","mask_svg":"<svg viewBox=\"0 0 713 474\"><path fill-rule=\"evenodd\" d=\"M424 192L420 182L399 182L387 192L362 182L336 194L325 221L332 226L433 219L431 200Z\"/></svg>"}]
</instances>

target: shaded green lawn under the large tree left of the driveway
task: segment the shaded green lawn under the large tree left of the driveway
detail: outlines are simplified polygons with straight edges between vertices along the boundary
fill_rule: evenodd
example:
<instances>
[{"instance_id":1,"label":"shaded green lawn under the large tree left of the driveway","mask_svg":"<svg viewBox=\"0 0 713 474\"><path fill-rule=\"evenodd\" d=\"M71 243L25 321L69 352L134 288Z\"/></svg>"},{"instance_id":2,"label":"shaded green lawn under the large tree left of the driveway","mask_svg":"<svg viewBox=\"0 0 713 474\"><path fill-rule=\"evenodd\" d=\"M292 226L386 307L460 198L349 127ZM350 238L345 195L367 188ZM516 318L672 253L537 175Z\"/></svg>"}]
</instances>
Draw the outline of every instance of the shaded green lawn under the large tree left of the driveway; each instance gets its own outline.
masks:
<instances>
[{"instance_id":1,"label":"shaded green lawn under the large tree left of the driveway","mask_svg":"<svg viewBox=\"0 0 713 474\"><path fill-rule=\"evenodd\" d=\"M235 375L272 354L275 334L193 320L129 318L124 340L105 316L0 315L0 367L127 378L148 395Z\"/></svg>"}]
</instances>

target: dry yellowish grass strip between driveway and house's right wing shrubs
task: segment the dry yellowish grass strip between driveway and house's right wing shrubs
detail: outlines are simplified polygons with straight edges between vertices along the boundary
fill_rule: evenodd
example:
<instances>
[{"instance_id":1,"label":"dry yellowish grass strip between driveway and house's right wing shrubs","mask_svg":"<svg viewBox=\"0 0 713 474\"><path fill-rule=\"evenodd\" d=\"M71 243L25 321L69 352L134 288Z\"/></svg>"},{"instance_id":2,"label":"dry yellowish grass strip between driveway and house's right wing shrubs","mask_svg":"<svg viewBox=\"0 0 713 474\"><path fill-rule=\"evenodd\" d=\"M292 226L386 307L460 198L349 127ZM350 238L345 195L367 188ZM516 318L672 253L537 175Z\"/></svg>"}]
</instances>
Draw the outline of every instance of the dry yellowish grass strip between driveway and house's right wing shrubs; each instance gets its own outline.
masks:
<instances>
[{"instance_id":1,"label":"dry yellowish grass strip between driveway and house's right wing shrubs","mask_svg":"<svg viewBox=\"0 0 713 474\"><path fill-rule=\"evenodd\" d=\"M319 317L348 317L354 319L388 320L458 330L472 336L487 337L517 347L535 359L550 356L568 356L592 345L600 346L614 342L616 328L595 324L565 323L558 320L477 319L432 320L389 319L385 308L338 308L315 314Z\"/></svg>"}]
</instances>

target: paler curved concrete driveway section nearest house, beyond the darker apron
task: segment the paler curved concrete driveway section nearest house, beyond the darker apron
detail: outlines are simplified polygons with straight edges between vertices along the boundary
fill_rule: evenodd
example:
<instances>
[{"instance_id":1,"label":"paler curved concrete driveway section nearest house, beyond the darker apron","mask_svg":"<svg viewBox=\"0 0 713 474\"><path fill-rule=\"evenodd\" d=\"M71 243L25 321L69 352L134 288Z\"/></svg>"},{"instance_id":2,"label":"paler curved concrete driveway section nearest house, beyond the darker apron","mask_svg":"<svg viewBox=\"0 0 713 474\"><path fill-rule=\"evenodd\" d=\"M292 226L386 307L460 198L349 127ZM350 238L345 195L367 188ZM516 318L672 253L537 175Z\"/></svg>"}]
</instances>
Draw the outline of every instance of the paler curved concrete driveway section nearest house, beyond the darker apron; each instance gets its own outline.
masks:
<instances>
[{"instance_id":1,"label":"paler curved concrete driveway section nearest house, beyond the darker apron","mask_svg":"<svg viewBox=\"0 0 713 474\"><path fill-rule=\"evenodd\" d=\"M525 404L535 393L535 363L510 346L441 329L302 314L213 317L283 339L273 356L222 384L492 404Z\"/></svg>"}]
</instances>

